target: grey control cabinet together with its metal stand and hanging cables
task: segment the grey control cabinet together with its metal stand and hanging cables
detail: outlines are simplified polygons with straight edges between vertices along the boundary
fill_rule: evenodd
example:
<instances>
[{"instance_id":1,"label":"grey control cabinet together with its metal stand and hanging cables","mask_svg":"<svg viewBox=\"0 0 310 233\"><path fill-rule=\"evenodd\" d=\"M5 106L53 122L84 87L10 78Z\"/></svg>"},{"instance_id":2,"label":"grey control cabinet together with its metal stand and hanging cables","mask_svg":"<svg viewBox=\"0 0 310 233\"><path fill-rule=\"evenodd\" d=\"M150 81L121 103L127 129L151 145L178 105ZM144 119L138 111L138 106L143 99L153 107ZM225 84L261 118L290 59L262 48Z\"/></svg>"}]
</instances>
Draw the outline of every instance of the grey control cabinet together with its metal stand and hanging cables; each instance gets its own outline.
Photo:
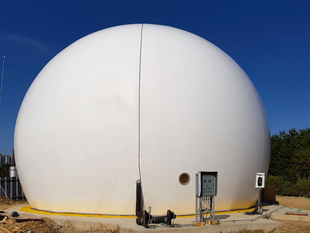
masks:
<instances>
[{"instance_id":1,"label":"grey control cabinet together with its metal stand and hanging cables","mask_svg":"<svg viewBox=\"0 0 310 233\"><path fill-rule=\"evenodd\" d=\"M204 214L210 214L210 222L214 220L214 197L217 194L217 171L199 171L196 173L196 226L206 222ZM202 223L202 224L204 224ZM203 225L202 225L203 226Z\"/></svg>"}]
</instances>

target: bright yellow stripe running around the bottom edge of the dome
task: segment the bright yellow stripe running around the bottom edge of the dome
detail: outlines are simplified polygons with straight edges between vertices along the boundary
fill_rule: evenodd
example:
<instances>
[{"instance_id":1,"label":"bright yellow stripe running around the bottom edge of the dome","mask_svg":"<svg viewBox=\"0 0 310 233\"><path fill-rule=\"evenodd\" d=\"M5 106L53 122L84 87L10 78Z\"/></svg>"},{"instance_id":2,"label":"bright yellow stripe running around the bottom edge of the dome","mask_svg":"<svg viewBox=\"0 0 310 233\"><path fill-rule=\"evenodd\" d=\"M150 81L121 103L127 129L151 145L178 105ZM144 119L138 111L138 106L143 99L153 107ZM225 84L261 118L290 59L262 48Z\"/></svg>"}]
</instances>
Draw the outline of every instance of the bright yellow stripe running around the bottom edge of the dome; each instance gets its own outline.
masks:
<instances>
[{"instance_id":1,"label":"bright yellow stripe running around the bottom edge of the dome","mask_svg":"<svg viewBox=\"0 0 310 233\"><path fill-rule=\"evenodd\" d=\"M264 207L263 207L264 208ZM31 206L25 206L20 209L21 211L33 213L33 214L43 214L43 215L59 215L59 216L77 216L77 217L93 217L93 218L136 218L135 215L98 215L98 214L75 214L75 213L57 213L57 212L49 212L43 210L35 210L32 209ZM234 210L234 211L221 211L215 212L214 214L231 214L238 212L250 212L253 211L254 208L247 210ZM177 218L191 218L195 217L195 215L178 215Z\"/></svg>"}]
</instances>

